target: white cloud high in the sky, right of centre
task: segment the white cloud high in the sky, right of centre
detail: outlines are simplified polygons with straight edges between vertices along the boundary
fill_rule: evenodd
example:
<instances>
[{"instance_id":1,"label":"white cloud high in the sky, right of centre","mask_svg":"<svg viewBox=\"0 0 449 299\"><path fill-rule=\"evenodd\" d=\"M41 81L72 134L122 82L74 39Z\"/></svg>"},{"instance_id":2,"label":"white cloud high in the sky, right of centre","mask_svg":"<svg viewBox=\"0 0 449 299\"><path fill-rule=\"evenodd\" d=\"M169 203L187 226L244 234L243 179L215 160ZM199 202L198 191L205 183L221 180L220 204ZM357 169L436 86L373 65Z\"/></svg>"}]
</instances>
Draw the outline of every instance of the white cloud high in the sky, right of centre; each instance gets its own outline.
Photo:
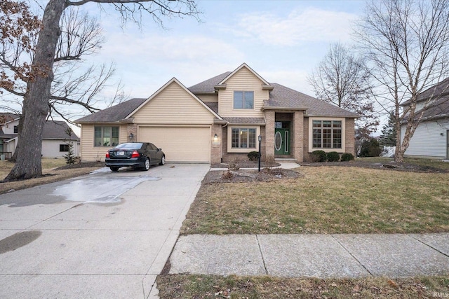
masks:
<instances>
[{"instance_id":1,"label":"white cloud high in the sky, right of centre","mask_svg":"<svg viewBox=\"0 0 449 299\"><path fill-rule=\"evenodd\" d=\"M356 15L319 8L292 11L286 17L274 13L249 13L239 16L235 34L262 43L295 46L307 41L348 41L351 21Z\"/></svg>"}]
</instances>

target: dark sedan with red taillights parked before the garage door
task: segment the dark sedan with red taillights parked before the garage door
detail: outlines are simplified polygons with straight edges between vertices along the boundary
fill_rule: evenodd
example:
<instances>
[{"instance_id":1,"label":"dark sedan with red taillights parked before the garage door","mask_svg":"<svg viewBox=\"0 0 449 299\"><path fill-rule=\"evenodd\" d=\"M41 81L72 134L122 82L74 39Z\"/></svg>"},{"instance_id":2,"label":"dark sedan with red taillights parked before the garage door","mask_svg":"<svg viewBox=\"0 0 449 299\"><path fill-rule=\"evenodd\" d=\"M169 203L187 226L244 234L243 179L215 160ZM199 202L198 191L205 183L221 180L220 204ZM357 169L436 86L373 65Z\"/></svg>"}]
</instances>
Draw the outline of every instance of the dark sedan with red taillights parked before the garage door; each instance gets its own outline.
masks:
<instances>
[{"instance_id":1,"label":"dark sedan with red taillights parked before the garage door","mask_svg":"<svg viewBox=\"0 0 449 299\"><path fill-rule=\"evenodd\" d=\"M120 167L148 170L151 165L166 164L166 155L161 148L149 142L119 144L107 151L105 164L113 172Z\"/></svg>"}]
</instances>

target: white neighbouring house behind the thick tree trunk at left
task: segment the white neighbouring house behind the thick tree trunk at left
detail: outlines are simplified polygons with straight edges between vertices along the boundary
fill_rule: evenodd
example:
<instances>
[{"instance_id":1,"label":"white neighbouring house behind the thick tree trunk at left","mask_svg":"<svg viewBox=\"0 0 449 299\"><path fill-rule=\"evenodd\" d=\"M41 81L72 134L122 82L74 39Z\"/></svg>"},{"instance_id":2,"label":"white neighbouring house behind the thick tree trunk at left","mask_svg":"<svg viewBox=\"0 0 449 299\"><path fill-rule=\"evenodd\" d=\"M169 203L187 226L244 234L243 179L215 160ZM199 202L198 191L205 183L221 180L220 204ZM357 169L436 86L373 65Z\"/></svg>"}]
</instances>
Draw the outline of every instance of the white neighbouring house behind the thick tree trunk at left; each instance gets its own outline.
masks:
<instances>
[{"instance_id":1,"label":"white neighbouring house behind the thick tree trunk at left","mask_svg":"<svg viewBox=\"0 0 449 299\"><path fill-rule=\"evenodd\" d=\"M0 153L9 159L14 154L18 141L20 115L0 113ZM64 158L69 151L69 142L73 145L75 156L79 156L79 137L74 132L69 137L67 123L60 120L47 120L42 134L42 157Z\"/></svg>"}]
</instances>

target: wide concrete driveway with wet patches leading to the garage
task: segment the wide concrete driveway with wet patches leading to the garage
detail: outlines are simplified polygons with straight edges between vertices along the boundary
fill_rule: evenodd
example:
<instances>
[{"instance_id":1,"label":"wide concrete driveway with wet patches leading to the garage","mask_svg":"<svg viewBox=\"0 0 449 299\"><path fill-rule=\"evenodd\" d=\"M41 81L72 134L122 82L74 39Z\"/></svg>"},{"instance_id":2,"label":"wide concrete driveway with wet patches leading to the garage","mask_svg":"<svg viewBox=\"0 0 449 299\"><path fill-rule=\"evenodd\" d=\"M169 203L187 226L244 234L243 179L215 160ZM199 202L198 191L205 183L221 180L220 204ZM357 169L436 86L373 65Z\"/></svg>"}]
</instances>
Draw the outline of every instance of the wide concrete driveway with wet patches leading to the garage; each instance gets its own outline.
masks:
<instances>
[{"instance_id":1,"label":"wide concrete driveway with wet patches leading to the garage","mask_svg":"<svg viewBox=\"0 0 449 299\"><path fill-rule=\"evenodd\" d=\"M105 168L0 195L1 298L153 298L208 170Z\"/></svg>"}]
</instances>

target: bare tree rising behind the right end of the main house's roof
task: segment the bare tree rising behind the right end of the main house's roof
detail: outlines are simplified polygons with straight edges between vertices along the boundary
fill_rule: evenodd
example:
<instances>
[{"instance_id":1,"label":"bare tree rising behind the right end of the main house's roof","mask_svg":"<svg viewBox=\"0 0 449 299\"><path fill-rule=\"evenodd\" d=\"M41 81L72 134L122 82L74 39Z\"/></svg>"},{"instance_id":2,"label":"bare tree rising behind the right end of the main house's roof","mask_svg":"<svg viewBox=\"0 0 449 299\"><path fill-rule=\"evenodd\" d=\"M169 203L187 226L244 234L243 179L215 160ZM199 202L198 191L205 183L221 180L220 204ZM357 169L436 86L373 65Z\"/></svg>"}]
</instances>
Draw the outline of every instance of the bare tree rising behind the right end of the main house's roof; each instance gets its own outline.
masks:
<instances>
[{"instance_id":1,"label":"bare tree rising behind the right end of the main house's roof","mask_svg":"<svg viewBox=\"0 0 449 299\"><path fill-rule=\"evenodd\" d=\"M315 96L342 109L358 113L356 129L360 138L377 130L379 119L375 113L370 74L365 62L341 43L330 46L319 66L307 78Z\"/></svg>"}]
</instances>

